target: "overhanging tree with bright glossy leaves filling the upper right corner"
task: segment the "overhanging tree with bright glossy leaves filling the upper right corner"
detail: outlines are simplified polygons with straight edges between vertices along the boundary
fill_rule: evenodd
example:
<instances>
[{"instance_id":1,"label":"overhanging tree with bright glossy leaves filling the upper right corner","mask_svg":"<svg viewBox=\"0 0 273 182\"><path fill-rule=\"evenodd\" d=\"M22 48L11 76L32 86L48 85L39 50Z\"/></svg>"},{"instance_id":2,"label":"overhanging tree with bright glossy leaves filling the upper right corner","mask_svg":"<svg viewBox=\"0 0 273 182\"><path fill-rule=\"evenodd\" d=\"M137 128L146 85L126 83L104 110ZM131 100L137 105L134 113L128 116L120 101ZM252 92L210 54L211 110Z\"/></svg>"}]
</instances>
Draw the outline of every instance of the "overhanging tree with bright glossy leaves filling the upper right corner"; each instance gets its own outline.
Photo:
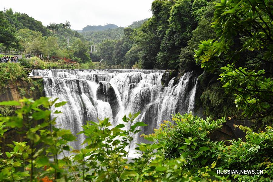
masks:
<instances>
[{"instance_id":1,"label":"overhanging tree with bright glossy leaves filling the upper right corner","mask_svg":"<svg viewBox=\"0 0 273 182\"><path fill-rule=\"evenodd\" d=\"M206 70L220 73L223 87L234 94L243 116L271 121L272 2L222 0L215 8L213 27L220 40L201 42L196 61Z\"/></svg>"}]
</instances>

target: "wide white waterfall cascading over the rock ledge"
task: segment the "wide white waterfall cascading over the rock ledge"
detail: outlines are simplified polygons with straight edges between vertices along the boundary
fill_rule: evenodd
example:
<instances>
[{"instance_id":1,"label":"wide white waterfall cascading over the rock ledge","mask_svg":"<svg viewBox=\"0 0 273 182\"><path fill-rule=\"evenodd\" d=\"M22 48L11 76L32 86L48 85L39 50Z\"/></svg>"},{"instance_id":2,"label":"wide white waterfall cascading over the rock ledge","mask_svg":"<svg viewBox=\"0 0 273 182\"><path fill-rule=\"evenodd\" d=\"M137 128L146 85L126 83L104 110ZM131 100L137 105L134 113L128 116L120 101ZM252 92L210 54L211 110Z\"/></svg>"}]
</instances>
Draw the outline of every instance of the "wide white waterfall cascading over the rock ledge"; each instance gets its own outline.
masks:
<instances>
[{"instance_id":1,"label":"wide white waterfall cascading over the rock ledge","mask_svg":"<svg viewBox=\"0 0 273 182\"><path fill-rule=\"evenodd\" d=\"M165 70L141 69L33 69L30 76L44 78L45 95L68 103L60 108L56 123L59 127L78 133L88 120L109 117L113 126L122 123L126 114L141 111L137 121L148 126L144 133L152 133L171 114L194 111L197 79L193 72L185 73L178 81ZM165 74L164 74L165 73ZM168 73L168 74L167 74ZM177 84L175 84L177 83ZM58 108L59 110L59 108ZM52 114L54 117L55 114ZM139 135L138 135L139 136ZM140 139L135 136L134 141ZM80 148L84 136L72 142Z\"/></svg>"}]
</instances>

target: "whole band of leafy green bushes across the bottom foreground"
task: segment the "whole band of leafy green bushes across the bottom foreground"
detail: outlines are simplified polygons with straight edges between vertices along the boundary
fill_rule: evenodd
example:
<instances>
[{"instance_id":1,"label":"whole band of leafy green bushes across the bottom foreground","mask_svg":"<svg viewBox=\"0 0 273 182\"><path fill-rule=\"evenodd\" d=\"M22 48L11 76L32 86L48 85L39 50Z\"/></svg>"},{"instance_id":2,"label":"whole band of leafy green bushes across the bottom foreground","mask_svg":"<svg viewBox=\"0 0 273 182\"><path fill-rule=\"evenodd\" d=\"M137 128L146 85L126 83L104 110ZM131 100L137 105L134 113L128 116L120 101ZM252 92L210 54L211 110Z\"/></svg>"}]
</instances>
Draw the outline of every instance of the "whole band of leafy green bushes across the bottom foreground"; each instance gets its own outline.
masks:
<instances>
[{"instance_id":1,"label":"whole band of leafy green bushes across the bottom foreground","mask_svg":"<svg viewBox=\"0 0 273 182\"><path fill-rule=\"evenodd\" d=\"M0 181L271 181L273 177L270 126L261 133L239 126L247 133L246 142L233 140L226 146L208 137L223 118L214 121L176 114L175 124L165 121L153 134L143 135L150 143L137 144L139 155L130 158L133 136L146 126L134 121L139 113L124 116L115 127L108 118L87 122L79 133L86 136L85 147L76 150L69 146L76 136L57 128L56 118L50 119L52 112L60 113L51 108L66 103L56 101L41 97L0 103L23 103L16 116L0 117L0 139L12 128L25 136L25 141L7 144L10 150L1 153ZM234 168L262 169L264 174L216 174L218 169Z\"/></svg>"}]
</instances>

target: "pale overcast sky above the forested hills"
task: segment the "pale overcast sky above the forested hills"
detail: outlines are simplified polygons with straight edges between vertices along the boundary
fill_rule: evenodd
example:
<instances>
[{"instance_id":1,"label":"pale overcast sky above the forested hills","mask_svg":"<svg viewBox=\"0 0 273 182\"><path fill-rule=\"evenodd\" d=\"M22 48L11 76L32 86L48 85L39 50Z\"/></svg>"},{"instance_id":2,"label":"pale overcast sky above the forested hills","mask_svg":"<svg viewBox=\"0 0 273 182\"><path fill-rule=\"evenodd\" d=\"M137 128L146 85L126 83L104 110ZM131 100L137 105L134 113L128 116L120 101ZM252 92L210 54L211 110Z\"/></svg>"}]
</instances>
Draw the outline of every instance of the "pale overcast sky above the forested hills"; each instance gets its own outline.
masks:
<instances>
[{"instance_id":1,"label":"pale overcast sky above the forested hills","mask_svg":"<svg viewBox=\"0 0 273 182\"><path fill-rule=\"evenodd\" d=\"M12 8L42 22L63 23L68 19L71 29L107 23L127 26L150 18L153 0L0 0L1 10Z\"/></svg>"}]
</instances>

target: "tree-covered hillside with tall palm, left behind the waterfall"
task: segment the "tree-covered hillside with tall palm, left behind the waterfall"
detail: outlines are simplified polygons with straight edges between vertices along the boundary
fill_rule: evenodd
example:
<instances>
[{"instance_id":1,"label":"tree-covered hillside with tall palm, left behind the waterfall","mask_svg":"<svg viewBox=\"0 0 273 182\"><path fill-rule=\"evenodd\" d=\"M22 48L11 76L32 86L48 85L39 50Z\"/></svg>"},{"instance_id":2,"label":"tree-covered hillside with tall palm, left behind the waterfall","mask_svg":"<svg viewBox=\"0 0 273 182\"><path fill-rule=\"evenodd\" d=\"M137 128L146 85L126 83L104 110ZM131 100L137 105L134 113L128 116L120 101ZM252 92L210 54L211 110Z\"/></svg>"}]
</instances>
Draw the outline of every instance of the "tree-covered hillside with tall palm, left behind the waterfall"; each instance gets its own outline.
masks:
<instances>
[{"instance_id":1,"label":"tree-covered hillside with tall palm, left behind the waterfall","mask_svg":"<svg viewBox=\"0 0 273 182\"><path fill-rule=\"evenodd\" d=\"M46 27L29 15L13 12L12 8L0 12L0 49L20 51L49 59L90 62L89 42L83 35L70 29L69 21L50 23Z\"/></svg>"}]
</instances>

